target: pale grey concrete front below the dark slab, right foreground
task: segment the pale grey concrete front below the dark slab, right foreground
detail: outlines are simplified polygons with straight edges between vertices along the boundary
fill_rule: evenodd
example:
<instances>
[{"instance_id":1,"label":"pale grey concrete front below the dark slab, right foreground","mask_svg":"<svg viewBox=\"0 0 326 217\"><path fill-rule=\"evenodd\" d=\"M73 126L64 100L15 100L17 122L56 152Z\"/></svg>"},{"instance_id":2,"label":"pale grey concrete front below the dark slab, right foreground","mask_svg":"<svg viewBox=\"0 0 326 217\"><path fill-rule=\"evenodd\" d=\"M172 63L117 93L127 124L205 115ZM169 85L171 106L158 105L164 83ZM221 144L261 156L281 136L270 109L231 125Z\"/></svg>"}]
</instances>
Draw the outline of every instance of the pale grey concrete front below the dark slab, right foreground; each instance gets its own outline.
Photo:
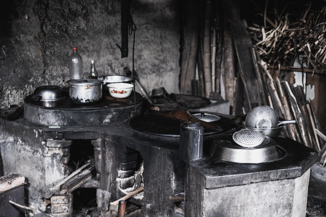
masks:
<instances>
[{"instance_id":1,"label":"pale grey concrete front below the dark slab, right foreground","mask_svg":"<svg viewBox=\"0 0 326 217\"><path fill-rule=\"evenodd\" d=\"M295 179L204 189L202 216L305 217L310 169Z\"/></svg>"}]
</instances>

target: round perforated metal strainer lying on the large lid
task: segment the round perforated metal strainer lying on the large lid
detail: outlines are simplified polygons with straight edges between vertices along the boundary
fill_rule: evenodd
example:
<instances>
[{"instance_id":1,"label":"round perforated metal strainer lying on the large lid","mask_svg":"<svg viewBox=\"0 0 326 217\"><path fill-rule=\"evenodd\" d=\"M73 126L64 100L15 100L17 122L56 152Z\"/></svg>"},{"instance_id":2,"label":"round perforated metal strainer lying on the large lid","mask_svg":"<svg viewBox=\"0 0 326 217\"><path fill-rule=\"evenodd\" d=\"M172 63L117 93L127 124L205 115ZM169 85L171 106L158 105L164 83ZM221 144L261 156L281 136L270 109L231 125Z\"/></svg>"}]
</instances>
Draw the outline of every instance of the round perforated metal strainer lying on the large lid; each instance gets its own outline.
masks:
<instances>
[{"instance_id":1,"label":"round perforated metal strainer lying on the large lid","mask_svg":"<svg viewBox=\"0 0 326 217\"><path fill-rule=\"evenodd\" d=\"M256 147L264 141L265 136L253 129L241 129L232 136L233 141L243 147Z\"/></svg>"}]
</instances>

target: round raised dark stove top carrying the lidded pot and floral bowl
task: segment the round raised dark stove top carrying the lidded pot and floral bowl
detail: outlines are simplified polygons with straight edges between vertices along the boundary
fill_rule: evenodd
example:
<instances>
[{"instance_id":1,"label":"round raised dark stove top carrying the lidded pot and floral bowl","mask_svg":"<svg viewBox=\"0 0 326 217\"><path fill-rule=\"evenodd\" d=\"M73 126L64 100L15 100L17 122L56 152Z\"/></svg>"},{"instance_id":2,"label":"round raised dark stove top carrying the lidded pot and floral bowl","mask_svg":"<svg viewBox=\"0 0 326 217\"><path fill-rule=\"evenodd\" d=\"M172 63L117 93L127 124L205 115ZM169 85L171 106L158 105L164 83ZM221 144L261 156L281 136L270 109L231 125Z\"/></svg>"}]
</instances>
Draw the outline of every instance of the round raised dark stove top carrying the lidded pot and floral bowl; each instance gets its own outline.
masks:
<instances>
[{"instance_id":1,"label":"round raised dark stove top carrying the lidded pot and floral bowl","mask_svg":"<svg viewBox=\"0 0 326 217\"><path fill-rule=\"evenodd\" d=\"M69 97L52 102L34 101L33 95L29 95L24 99L24 119L43 126L102 126L140 115L141 94L136 92L135 103L133 92L122 101L105 93L99 102L86 105L74 104Z\"/></svg>"}]
</instances>

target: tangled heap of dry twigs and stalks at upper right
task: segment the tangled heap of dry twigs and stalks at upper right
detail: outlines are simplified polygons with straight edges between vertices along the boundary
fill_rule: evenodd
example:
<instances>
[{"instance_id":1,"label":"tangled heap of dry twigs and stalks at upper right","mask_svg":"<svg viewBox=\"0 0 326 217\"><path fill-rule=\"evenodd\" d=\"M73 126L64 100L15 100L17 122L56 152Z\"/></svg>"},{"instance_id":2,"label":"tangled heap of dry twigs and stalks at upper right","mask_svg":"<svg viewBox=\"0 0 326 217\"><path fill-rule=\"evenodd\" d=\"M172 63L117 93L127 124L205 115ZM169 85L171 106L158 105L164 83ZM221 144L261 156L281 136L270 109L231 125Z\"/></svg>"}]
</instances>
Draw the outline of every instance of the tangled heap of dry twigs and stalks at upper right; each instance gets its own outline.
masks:
<instances>
[{"instance_id":1,"label":"tangled heap of dry twigs and stalks at upper right","mask_svg":"<svg viewBox=\"0 0 326 217\"><path fill-rule=\"evenodd\" d=\"M261 59L278 69L291 69L289 66L299 60L298 68L325 73L326 7L318 8L310 2L305 8L296 8L300 14L294 15L287 12L288 8L279 12L277 6L267 7L267 3L265 10L256 5L261 22L249 27Z\"/></svg>"}]
</instances>

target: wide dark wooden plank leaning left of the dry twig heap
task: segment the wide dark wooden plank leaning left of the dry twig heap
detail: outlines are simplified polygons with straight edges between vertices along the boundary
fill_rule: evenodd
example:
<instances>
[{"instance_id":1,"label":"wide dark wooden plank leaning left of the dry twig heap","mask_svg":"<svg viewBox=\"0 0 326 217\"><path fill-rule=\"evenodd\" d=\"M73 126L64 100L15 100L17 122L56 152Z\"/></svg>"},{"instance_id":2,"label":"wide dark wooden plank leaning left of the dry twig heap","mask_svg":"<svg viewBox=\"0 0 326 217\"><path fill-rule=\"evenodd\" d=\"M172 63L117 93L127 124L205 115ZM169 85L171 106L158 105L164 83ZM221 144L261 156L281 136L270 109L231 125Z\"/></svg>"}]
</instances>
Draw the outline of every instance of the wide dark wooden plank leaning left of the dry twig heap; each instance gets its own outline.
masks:
<instances>
[{"instance_id":1,"label":"wide dark wooden plank leaning left of the dry twig heap","mask_svg":"<svg viewBox=\"0 0 326 217\"><path fill-rule=\"evenodd\" d=\"M249 106L244 109L249 112L252 108L259 105L258 94L260 90L257 84L258 77L253 64L252 42L246 30L247 27L245 20L231 21L232 38L240 63L240 75L244 81L244 90Z\"/></svg>"}]
</instances>

